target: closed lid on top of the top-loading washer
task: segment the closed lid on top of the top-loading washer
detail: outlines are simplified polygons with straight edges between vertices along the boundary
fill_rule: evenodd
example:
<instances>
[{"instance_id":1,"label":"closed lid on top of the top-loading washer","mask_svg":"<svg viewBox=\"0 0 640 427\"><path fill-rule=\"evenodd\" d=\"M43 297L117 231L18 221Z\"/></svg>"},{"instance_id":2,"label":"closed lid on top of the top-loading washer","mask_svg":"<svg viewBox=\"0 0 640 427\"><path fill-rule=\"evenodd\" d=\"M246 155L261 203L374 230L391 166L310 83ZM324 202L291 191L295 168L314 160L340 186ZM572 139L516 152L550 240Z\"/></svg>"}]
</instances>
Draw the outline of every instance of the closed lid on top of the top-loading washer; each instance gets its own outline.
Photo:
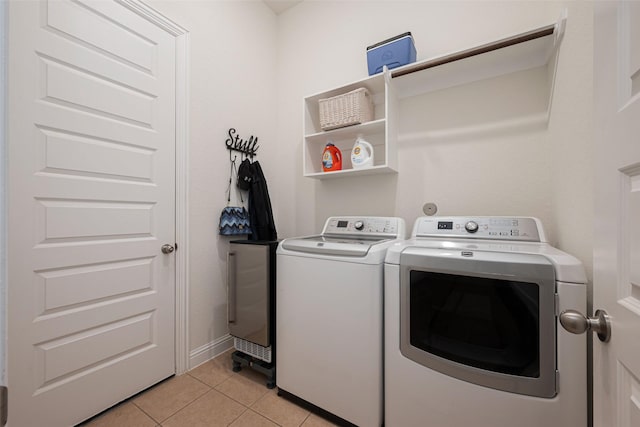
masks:
<instances>
[{"instance_id":1,"label":"closed lid on top of the top-loading washer","mask_svg":"<svg viewBox=\"0 0 640 427\"><path fill-rule=\"evenodd\" d=\"M363 257L371 246L386 242L388 238L317 235L286 239L282 247L291 251L309 252L323 255Z\"/></svg>"}]
</instances>

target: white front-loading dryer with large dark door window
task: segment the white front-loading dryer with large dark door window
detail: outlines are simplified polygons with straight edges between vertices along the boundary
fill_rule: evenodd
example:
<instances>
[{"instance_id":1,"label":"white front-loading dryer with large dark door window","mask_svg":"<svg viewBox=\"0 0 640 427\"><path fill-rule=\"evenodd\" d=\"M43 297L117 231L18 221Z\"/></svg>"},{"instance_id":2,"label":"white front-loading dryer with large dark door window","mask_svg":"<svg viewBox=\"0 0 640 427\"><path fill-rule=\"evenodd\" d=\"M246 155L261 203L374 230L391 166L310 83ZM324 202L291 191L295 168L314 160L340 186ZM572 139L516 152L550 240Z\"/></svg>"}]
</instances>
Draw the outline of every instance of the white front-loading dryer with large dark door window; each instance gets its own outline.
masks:
<instances>
[{"instance_id":1,"label":"white front-loading dryer with large dark door window","mask_svg":"<svg viewBox=\"0 0 640 427\"><path fill-rule=\"evenodd\" d=\"M422 217L385 263L385 423L584 427L586 275L523 217Z\"/></svg>"}]
</instances>

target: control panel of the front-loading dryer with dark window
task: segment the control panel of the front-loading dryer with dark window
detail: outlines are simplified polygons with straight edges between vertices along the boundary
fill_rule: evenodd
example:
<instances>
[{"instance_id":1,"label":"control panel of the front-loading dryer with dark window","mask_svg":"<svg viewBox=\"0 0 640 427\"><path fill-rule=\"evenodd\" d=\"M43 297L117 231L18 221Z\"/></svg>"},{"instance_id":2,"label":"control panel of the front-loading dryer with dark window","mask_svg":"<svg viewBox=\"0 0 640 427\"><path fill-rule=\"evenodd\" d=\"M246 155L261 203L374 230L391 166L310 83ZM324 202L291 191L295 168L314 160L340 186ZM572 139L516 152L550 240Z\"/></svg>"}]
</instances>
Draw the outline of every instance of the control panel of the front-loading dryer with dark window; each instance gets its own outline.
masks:
<instances>
[{"instance_id":1,"label":"control panel of the front-loading dryer with dark window","mask_svg":"<svg viewBox=\"0 0 640 427\"><path fill-rule=\"evenodd\" d=\"M416 220L412 237L453 237L546 242L540 220L533 217L437 217Z\"/></svg>"}]
</instances>

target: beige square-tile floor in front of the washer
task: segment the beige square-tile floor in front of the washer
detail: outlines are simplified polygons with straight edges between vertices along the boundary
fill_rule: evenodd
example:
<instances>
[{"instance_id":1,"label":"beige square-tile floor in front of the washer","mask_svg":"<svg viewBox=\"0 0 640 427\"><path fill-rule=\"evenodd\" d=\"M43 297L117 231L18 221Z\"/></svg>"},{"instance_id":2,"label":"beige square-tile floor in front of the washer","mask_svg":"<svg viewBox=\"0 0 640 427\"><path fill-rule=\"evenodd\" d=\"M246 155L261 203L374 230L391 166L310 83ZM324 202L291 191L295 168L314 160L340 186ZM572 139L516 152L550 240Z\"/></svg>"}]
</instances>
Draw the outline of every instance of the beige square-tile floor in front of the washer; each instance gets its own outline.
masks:
<instances>
[{"instance_id":1,"label":"beige square-tile floor in front of the washer","mask_svg":"<svg viewBox=\"0 0 640 427\"><path fill-rule=\"evenodd\" d=\"M252 369L233 372L231 350L80 424L82 427L334 426L278 396Z\"/></svg>"}]
</instances>

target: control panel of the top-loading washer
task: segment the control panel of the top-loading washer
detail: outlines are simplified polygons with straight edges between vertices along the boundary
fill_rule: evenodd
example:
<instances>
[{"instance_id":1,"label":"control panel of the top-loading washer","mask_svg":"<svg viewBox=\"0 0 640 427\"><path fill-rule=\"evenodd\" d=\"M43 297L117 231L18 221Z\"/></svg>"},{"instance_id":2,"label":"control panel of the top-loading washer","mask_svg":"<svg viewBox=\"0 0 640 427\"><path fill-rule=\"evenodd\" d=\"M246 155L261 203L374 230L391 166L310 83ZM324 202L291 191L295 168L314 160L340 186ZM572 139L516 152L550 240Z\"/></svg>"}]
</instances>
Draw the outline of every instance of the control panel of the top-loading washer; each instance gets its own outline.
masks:
<instances>
[{"instance_id":1,"label":"control panel of the top-loading washer","mask_svg":"<svg viewBox=\"0 0 640 427\"><path fill-rule=\"evenodd\" d=\"M405 226L402 218L395 217L330 217L324 224L322 234L371 235L404 239Z\"/></svg>"}]
</instances>

